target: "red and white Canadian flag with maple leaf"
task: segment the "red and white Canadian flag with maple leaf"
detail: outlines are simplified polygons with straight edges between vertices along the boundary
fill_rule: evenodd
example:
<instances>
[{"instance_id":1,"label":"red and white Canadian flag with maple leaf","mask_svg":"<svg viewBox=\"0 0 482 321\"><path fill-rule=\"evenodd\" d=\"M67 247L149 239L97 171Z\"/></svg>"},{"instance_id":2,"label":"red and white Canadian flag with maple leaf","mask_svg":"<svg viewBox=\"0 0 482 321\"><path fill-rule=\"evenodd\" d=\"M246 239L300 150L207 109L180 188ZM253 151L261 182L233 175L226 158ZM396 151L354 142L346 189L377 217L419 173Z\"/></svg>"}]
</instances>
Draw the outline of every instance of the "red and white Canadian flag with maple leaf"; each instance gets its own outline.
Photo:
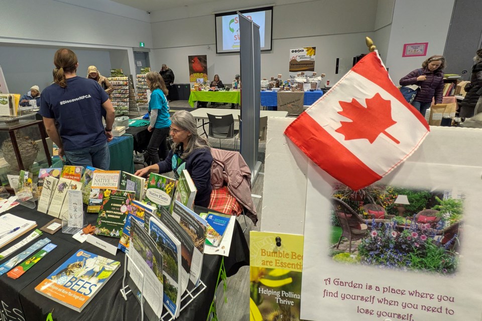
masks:
<instances>
[{"instance_id":1,"label":"red and white Canadian flag with maple leaf","mask_svg":"<svg viewBox=\"0 0 482 321\"><path fill-rule=\"evenodd\" d=\"M321 169L359 190L404 162L429 131L375 51L296 118L285 134Z\"/></svg>"}]
</instances>

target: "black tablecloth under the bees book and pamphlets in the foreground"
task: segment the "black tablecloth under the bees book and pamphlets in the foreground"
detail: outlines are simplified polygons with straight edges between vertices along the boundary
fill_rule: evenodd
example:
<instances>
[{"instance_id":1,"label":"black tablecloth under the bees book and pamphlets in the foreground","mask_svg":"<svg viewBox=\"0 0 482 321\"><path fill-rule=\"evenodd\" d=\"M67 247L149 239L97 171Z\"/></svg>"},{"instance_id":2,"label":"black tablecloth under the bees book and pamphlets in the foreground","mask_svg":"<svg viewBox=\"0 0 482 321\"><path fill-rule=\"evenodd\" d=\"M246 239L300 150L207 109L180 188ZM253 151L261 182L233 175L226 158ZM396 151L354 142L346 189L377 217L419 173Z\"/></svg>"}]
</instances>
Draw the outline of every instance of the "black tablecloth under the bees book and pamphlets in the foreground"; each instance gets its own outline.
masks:
<instances>
[{"instance_id":1,"label":"black tablecloth under the bees book and pamphlets in the foreground","mask_svg":"<svg viewBox=\"0 0 482 321\"><path fill-rule=\"evenodd\" d=\"M28 220L37 222L38 227L47 224L52 217L35 210L17 206L8 211L14 215L21 216ZM96 220L96 215L87 214L89 223ZM119 289L122 287L124 277L124 252L117 251L115 256L89 244L79 243L70 234L63 234L61 231L54 235L44 233L39 239L48 237L57 247L19 279L14 280L4 274L0 276L0 312L3 312L6 320L41 320L44 321L47 314L53 311L54 320L140 320L140 304L132 293L125 301ZM22 239L21 237L20 239ZM104 241L117 244L118 239L101 237ZM35 242L35 241L34 241ZM22 247L11 256L20 253L21 250L31 246L34 242ZM13 243L14 244L14 243ZM11 245L13 245L11 244ZM6 246L5 248L10 247ZM2 250L4 250L3 248ZM42 282L52 271L54 271L64 260L73 255L78 249L96 253L107 258L121 262L121 268L115 272L108 283L95 295L92 301L79 313L60 303L57 303L35 291L35 286ZM224 266L227 276L235 274L241 266L249 265L249 248L246 238L240 225L234 227L231 249L228 257L218 255L204 255L201 280L206 284L206 289L191 302L180 314L179 320L205 320L210 304L217 288L217 278L221 260L224 258ZM5 259L4 261L7 261ZM2 262L3 263L3 262ZM126 279L127 284L127 279ZM165 309L164 309L165 311ZM1 316L2 314L0 314ZM19 316L21 315L21 316ZM4 318L0 317L1 320ZM146 317L144 318L147 319Z\"/></svg>"}]
</instances>

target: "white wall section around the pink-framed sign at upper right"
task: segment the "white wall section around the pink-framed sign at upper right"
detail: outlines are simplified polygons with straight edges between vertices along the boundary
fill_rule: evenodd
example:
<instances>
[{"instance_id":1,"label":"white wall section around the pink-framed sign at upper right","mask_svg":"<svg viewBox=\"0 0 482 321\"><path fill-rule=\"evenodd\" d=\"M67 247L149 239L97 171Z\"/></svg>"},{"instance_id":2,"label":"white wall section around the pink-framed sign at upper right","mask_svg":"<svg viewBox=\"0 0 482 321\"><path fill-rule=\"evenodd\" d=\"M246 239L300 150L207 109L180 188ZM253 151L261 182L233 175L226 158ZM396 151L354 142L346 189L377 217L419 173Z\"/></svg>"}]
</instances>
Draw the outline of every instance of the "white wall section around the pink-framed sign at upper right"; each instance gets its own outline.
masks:
<instances>
[{"instance_id":1,"label":"white wall section around the pink-framed sign at upper right","mask_svg":"<svg viewBox=\"0 0 482 321\"><path fill-rule=\"evenodd\" d=\"M398 84L400 78L432 55L442 55L454 0L396 0L386 66ZM402 57L403 45L428 42L425 57ZM450 62L448 62L450 63Z\"/></svg>"}]
</instances>

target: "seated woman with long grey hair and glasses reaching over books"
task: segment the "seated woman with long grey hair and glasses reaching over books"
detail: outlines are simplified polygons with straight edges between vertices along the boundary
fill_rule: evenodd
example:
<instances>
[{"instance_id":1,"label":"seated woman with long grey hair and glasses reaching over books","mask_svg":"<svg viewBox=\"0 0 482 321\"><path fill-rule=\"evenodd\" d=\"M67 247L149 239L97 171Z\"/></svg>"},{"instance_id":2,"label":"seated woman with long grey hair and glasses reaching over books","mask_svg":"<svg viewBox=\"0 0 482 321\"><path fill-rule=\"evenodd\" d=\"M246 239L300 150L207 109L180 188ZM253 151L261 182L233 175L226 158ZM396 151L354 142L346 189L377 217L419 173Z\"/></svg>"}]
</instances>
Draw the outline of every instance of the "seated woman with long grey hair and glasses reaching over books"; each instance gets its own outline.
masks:
<instances>
[{"instance_id":1,"label":"seated woman with long grey hair and glasses reaching over books","mask_svg":"<svg viewBox=\"0 0 482 321\"><path fill-rule=\"evenodd\" d=\"M135 175L146 176L172 170L176 179L179 179L179 174L186 169L197 188L194 205L207 207L212 191L209 142L198 135L196 120L185 110L178 110L171 116L170 134L174 144L166 159L137 171Z\"/></svg>"}]
</instances>

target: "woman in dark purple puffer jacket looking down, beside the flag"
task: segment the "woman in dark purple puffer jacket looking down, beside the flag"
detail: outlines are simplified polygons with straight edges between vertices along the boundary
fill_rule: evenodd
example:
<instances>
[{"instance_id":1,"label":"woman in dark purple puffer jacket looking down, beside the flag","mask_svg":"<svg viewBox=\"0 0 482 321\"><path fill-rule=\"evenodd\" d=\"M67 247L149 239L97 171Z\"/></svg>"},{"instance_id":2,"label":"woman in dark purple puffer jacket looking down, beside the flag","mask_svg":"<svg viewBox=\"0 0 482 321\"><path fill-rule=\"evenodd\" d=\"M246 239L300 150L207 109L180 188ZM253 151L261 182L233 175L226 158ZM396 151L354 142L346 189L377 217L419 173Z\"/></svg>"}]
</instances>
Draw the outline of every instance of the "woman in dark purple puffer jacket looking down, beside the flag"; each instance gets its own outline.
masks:
<instances>
[{"instance_id":1,"label":"woman in dark purple puffer jacket looking down, beside the flag","mask_svg":"<svg viewBox=\"0 0 482 321\"><path fill-rule=\"evenodd\" d=\"M419 85L420 89L412 102L412 105L419 110L423 116L435 97L435 104L442 103L443 96L443 72L445 58L435 55L422 63L422 68L415 69L407 76L400 79L400 85Z\"/></svg>"}]
</instances>

